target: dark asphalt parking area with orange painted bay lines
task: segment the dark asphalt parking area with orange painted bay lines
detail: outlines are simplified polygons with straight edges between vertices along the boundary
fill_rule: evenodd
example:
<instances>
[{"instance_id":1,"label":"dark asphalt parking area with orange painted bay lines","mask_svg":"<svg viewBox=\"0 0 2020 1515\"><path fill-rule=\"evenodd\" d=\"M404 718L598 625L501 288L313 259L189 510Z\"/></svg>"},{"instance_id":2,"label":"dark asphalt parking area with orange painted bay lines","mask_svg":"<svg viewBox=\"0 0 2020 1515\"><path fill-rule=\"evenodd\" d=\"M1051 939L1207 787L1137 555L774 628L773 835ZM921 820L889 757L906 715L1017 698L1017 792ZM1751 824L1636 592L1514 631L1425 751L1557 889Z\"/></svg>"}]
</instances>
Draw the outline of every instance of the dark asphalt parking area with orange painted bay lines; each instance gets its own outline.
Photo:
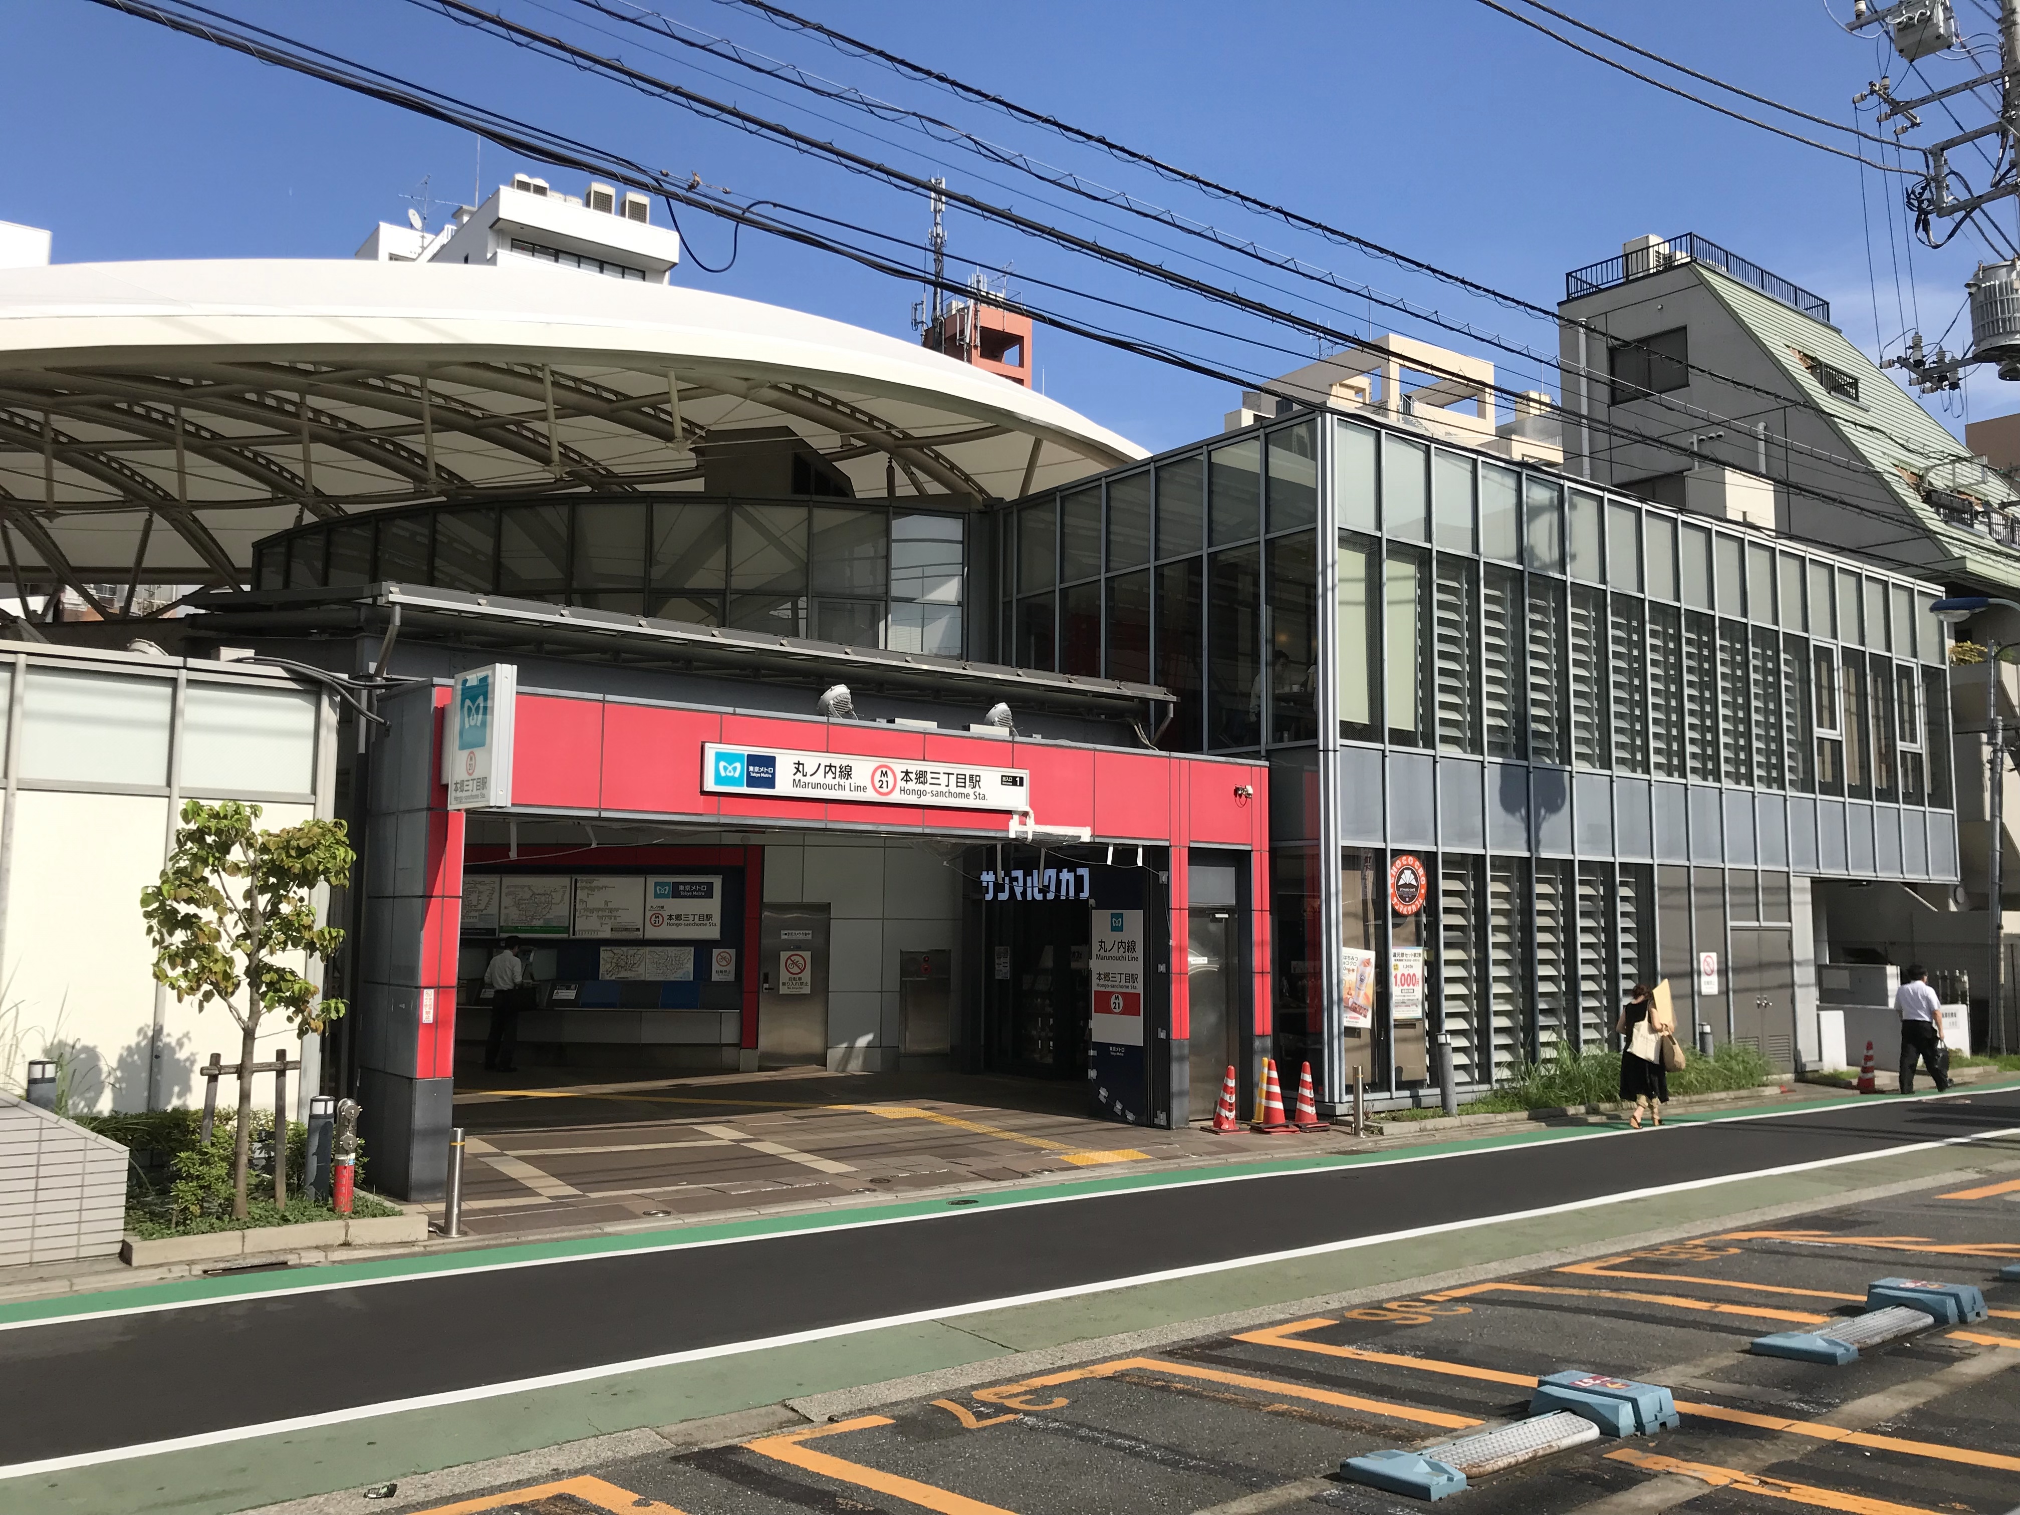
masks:
<instances>
[{"instance_id":1,"label":"dark asphalt parking area with orange painted bay lines","mask_svg":"<svg viewBox=\"0 0 2020 1515\"><path fill-rule=\"evenodd\" d=\"M1456 1495L1495 1515L2002 1515L2020 1501L2020 1180L1955 1180L1852 1208L1713 1226L1559 1267L1410 1287L1038 1372L832 1394L636 1432L626 1454L452 1497L386 1493L388 1515L1262 1515L1424 1505L1339 1462L1424 1448L1527 1412L1566 1368L1664 1384L1683 1426L1598 1440ZM1848 1368L1745 1341L1852 1313L1871 1279L1978 1283L1992 1319ZM535 1471L537 1469L537 1471ZM424 1483L440 1489L442 1477ZM351 1509L358 1495L285 1507ZM273 1515L281 1515L275 1511Z\"/></svg>"}]
</instances>

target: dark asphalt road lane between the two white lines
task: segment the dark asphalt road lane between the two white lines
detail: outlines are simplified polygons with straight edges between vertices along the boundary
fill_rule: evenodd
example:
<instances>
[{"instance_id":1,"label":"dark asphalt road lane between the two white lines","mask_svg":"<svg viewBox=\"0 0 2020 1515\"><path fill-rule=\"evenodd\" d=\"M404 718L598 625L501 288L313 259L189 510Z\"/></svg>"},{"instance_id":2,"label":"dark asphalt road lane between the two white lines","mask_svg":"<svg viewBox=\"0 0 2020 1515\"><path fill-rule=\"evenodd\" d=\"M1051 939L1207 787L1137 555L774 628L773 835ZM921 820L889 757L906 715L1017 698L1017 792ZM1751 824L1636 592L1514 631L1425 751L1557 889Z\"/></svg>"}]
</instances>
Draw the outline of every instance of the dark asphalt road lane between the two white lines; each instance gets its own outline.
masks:
<instances>
[{"instance_id":1,"label":"dark asphalt road lane between the two white lines","mask_svg":"<svg viewBox=\"0 0 2020 1515\"><path fill-rule=\"evenodd\" d=\"M0 1329L0 1467L2016 1127L2020 1091L1873 1101L55 1319Z\"/></svg>"}]
</instances>

